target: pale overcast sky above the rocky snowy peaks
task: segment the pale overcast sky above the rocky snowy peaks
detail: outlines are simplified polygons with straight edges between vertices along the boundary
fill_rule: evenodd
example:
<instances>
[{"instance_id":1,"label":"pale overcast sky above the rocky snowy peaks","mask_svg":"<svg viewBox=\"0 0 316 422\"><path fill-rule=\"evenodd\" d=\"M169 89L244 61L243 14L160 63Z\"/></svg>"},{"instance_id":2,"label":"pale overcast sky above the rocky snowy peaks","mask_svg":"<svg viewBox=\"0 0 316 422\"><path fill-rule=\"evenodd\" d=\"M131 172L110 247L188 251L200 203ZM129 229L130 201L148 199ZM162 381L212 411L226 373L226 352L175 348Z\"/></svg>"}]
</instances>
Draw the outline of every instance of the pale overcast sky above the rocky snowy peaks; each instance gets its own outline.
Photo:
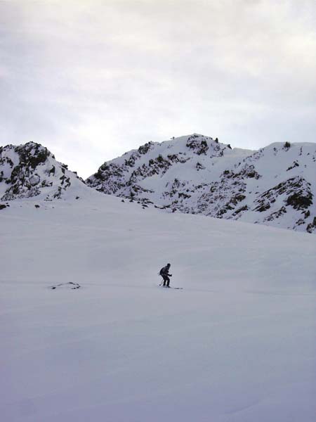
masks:
<instances>
[{"instance_id":1,"label":"pale overcast sky above the rocky snowy peaks","mask_svg":"<svg viewBox=\"0 0 316 422\"><path fill-rule=\"evenodd\" d=\"M315 0L0 0L0 144L82 177L147 141L316 142Z\"/></svg>"}]
</instances>

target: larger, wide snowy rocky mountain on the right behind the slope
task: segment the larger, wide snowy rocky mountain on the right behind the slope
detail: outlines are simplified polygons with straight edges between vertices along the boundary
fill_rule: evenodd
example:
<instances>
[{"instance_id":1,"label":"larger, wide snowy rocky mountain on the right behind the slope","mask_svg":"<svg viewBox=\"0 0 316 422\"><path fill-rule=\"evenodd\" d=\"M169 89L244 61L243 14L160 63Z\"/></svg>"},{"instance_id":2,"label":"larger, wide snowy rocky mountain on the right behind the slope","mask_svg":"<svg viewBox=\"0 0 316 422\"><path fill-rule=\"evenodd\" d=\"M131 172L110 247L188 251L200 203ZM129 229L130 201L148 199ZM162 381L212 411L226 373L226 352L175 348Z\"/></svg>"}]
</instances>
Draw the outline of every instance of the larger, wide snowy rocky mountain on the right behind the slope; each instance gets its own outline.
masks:
<instances>
[{"instance_id":1,"label":"larger, wide snowy rocky mountain on the right behind the slope","mask_svg":"<svg viewBox=\"0 0 316 422\"><path fill-rule=\"evenodd\" d=\"M232 149L192 134L105 162L86 184L190 214L316 231L316 144Z\"/></svg>"}]
</instances>

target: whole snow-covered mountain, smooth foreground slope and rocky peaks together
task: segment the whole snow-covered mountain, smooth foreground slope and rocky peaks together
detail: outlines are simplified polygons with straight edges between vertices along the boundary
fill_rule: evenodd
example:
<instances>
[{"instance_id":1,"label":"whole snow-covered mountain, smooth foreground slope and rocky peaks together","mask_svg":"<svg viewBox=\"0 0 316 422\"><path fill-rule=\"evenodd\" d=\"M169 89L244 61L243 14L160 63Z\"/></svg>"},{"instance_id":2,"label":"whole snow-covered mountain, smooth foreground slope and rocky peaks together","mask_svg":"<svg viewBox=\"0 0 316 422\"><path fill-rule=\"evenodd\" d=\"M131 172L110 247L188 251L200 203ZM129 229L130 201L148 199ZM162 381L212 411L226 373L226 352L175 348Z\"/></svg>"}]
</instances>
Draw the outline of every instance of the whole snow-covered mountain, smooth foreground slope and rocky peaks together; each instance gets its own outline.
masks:
<instances>
[{"instance_id":1,"label":"whole snow-covered mountain, smooth foreground slope and rocky peaks together","mask_svg":"<svg viewBox=\"0 0 316 422\"><path fill-rule=\"evenodd\" d=\"M189 138L89 184L144 207L233 218L246 196L262 210L240 219L275 204L272 222L314 218L315 146ZM1 148L0 172L1 421L315 421L314 236L143 210L36 143Z\"/></svg>"}]
</instances>

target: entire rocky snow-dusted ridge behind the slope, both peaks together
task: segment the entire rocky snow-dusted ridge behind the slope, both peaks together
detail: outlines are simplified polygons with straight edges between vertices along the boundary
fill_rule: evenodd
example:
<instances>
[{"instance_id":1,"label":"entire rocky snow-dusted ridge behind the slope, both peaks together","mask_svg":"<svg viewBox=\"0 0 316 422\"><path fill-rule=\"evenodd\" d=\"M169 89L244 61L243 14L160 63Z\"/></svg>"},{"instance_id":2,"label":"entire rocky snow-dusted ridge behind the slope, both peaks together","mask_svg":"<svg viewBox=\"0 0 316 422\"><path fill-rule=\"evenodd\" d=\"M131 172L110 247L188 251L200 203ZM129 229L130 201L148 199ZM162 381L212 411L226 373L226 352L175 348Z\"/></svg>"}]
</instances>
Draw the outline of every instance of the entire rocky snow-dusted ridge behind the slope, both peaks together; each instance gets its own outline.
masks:
<instances>
[{"instance_id":1,"label":"entire rocky snow-dusted ridge behind the slope, both peaks together","mask_svg":"<svg viewBox=\"0 0 316 422\"><path fill-rule=\"evenodd\" d=\"M274 143L249 151L192 134L145 143L105 162L85 182L38 143L0 147L0 199L5 202L0 210L11 200L27 198L88 200L95 190L143 208L313 233L316 144Z\"/></svg>"}]
</instances>

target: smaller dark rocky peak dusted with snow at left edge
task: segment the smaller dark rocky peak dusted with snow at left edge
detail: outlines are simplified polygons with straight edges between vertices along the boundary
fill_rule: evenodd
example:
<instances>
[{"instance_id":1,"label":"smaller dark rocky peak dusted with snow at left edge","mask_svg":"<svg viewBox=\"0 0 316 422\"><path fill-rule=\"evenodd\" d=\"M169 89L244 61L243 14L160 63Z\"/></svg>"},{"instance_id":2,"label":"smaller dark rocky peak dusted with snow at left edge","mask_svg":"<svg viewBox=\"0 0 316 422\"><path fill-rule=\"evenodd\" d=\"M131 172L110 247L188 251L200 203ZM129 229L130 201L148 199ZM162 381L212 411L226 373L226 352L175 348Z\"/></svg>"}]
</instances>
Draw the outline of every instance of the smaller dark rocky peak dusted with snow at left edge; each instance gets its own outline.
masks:
<instances>
[{"instance_id":1,"label":"smaller dark rocky peak dusted with snow at left edge","mask_svg":"<svg viewBox=\"0 0 316 422\"><path fill-rule=\"evenodd\" d=\"M67 170L67 165L56 161L54 155L38 143L0 147L1 200L33 196L53 200L65 197L70 186L80 185L84 183L77 174Z\"/></svg>"}]
</instances>

